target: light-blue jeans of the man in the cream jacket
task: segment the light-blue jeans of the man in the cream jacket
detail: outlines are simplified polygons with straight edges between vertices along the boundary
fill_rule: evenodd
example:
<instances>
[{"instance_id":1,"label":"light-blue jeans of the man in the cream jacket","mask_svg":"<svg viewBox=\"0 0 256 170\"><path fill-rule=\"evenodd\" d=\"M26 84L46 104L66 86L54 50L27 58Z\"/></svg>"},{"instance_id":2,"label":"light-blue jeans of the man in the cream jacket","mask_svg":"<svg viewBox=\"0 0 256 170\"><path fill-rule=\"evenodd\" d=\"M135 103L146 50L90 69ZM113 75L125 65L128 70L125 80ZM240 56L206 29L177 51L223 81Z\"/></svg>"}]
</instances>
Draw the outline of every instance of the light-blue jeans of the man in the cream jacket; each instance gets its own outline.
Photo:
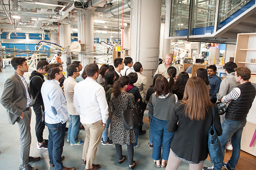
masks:
<instances>
[{"instance_id":1,"label":"light-blue jeans of the man in the cream jacket","mask_svg":"<svg viewBox=\"0 0 256 170\"><path fill-rule=\"evenodd\" d=\"M80 116L71 114L69 116L71 120L69 123L68 140L70 140L71 144L75 144L78 142L78 134L81 126Z\"/></svg>"}]
</instances>

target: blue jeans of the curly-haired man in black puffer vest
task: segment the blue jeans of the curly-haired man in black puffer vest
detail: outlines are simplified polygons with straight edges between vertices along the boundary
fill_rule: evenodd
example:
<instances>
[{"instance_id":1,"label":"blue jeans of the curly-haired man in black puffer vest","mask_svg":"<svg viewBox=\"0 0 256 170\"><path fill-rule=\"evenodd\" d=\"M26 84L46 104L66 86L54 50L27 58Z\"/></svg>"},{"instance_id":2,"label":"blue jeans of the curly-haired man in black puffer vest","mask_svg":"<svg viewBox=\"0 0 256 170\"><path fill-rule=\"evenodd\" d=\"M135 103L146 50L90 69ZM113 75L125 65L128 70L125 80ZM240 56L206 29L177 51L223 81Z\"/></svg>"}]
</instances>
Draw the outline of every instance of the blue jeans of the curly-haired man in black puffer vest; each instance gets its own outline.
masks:
<instances>
[{"instance_id":1,"label":"blue jeans of the curly-haired man in black puffer vest","mask_svg":"<svg viewBox=\"0 0 256 170\"><path fill-rule=\"evenodd\" d=\"M231 143L233 147L232 156L228 161L228 166L231 169L235 169L235 165L238 162L241 150L241 138L243 127L246 125L246 119L243 120L228 120L226 119L222 123L222 135L219 136L220 145L222 148L223 157L225 155L225 147L228 140L231 138ZM215 170L222 169L222 163L214 165Z\"/></svg>"}]
</instances>

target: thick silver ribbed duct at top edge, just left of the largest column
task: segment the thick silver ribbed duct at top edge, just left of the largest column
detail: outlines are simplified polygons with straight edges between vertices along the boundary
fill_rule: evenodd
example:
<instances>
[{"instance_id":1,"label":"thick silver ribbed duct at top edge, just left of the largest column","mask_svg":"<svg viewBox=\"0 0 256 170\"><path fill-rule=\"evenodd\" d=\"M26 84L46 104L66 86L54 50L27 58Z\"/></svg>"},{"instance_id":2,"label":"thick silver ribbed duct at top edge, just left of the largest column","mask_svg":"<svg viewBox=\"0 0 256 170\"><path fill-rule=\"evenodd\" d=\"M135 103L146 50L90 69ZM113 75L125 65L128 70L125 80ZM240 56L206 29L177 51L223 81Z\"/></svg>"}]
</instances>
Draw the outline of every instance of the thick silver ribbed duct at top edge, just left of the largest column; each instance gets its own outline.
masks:
<instances>
[{"instance_id":1,"label":"thick silver ribbed duct at top edge, just left of the largest column","mask_svg":"<svg viewBox=\"0 0 256 170\"><path fill-rule=\"evenodd\" d=\"M131 10L131 4L129 2L130 2L130 0L127 0L124 3L124 12L128 12ZM118 13L118 10L119 10L119 13ZM109 17L113 17L115 15L122 14L122 12L123 12L123 3L119 2L117 5L114 5L113 7L104 10L103 15L104 15L104 17L109 18Z\"/></svg>"}]
</instances>

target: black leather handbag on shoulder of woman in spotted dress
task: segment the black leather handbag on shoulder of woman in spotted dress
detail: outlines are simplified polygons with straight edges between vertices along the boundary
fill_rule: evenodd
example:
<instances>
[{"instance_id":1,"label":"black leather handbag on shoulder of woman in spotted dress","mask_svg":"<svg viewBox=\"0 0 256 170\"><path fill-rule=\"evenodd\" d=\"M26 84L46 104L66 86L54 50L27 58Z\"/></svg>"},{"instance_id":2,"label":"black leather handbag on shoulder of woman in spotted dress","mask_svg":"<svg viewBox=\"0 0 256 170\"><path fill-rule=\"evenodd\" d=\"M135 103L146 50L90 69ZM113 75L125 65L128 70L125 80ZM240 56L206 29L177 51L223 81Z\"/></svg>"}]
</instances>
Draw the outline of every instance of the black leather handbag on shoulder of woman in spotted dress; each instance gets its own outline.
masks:
<instances>
[{"instance_id":1,"label":"black leather handbag on shoulder of woman in spotted dress","mask_svg":"<svg viewBox=\"0 0 256 170\"><path fill-rule=\"evenodd\" d=\"M131 104L131 109L122 111L122 118L124 121L124 129L136 129L137 127L143 125L139 114L136 112L137 108L132 108L131 96L129 94L128 103Z\"/></svg>"}]
</instances>

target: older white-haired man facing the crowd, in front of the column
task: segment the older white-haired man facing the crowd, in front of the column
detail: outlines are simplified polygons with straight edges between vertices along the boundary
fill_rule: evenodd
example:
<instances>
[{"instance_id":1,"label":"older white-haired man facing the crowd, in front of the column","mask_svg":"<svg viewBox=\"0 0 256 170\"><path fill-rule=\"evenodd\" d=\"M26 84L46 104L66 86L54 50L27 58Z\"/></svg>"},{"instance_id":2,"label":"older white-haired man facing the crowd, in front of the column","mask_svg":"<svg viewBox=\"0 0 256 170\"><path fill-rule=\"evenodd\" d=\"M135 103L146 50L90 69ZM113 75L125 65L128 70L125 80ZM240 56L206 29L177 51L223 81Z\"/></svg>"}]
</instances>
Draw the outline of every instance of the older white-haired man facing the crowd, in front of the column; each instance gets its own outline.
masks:
<instances>
[{"instance_id":1,"label":"older white-haired man facing the crowd, in front of the column","mask_svg":"<svg viewBox=\"0 0 256 170\"><path fill-rule=\"evenodd\" d=\"M178 76L178 74L180 74L179 67L174 63L172 63L172 61L173 61L173 54L167 53L165 57L165 63L162 63L158 66L155 75L162 74L165 78L169 78L167 75L167 69L169 67L175 67L177 70L176 76Z\"/></svg>"}]
</instances>

